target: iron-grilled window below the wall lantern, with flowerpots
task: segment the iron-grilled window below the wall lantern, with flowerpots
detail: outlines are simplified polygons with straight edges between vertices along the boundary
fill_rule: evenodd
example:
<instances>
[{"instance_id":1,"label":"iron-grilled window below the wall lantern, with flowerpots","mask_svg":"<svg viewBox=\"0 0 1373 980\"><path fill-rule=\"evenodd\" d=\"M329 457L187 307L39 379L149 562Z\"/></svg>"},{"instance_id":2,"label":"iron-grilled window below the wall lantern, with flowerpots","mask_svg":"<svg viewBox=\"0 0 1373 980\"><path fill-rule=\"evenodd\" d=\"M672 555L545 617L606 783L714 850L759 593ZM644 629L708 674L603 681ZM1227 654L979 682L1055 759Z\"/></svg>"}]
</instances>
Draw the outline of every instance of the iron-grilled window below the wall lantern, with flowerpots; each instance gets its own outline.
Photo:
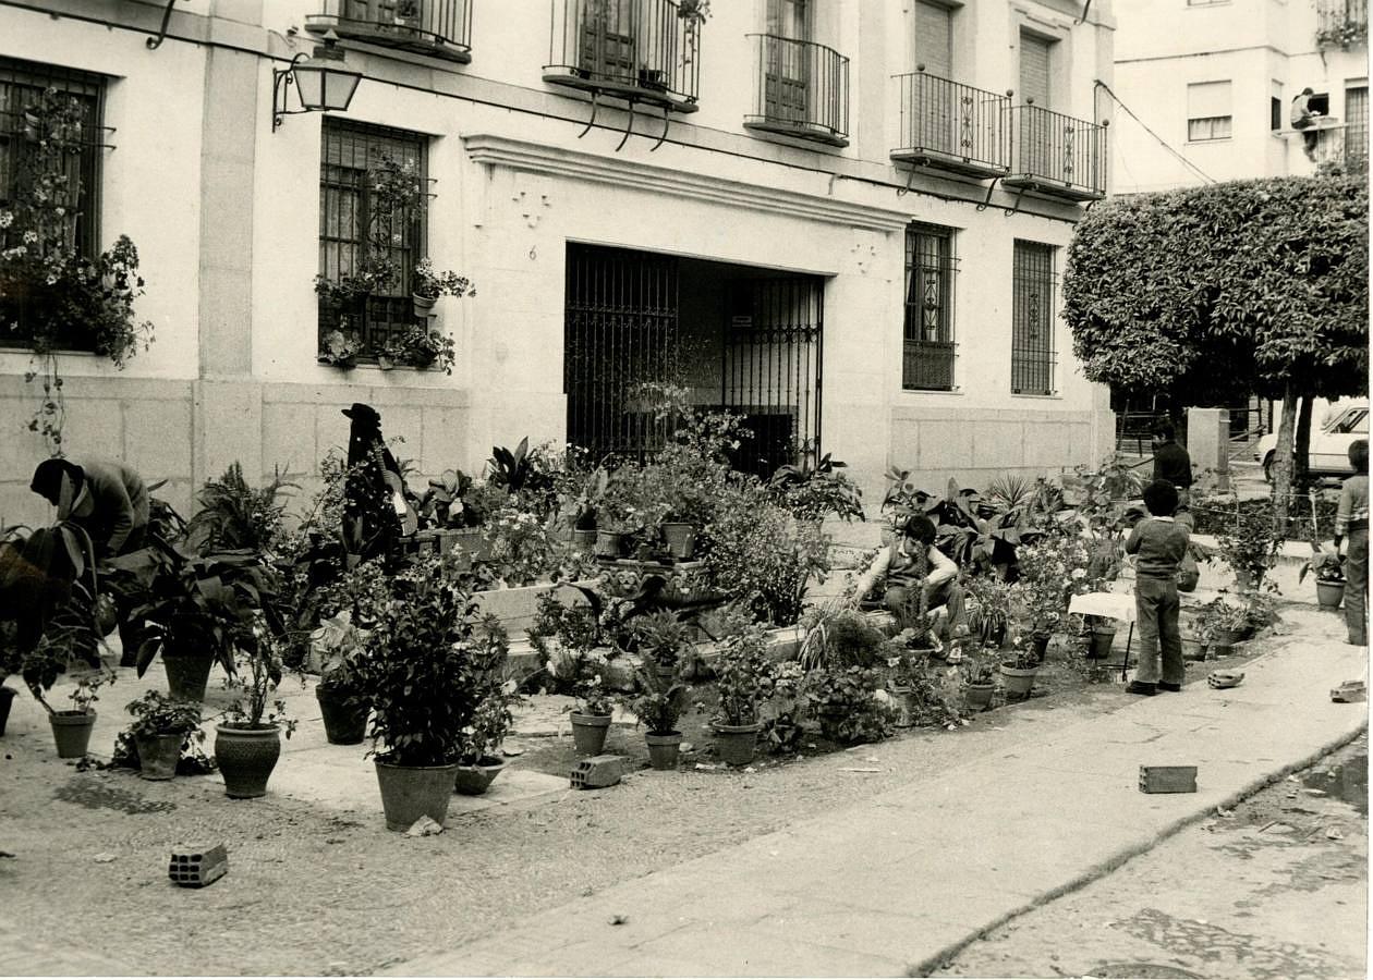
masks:
<instances>
[{"instance_id":1,"label":"iron-grilled window below the wall lantern, with flowerpots","mask_svg":"<svg viewBox=\"0 0 1373 980\"><path fill-rule=\"evenodd\" d=\"M356 299L321 292L320 336L339 327L354 331L364 351L375 355L416 324L411 284L415 264L426 254L427 195L415 207L382 213L369 174L393 161L412 167L427 188L427 137L325 118L320 145L320 277L347 281L378 262L394 269Z\"/></svg>"}]
</instances>

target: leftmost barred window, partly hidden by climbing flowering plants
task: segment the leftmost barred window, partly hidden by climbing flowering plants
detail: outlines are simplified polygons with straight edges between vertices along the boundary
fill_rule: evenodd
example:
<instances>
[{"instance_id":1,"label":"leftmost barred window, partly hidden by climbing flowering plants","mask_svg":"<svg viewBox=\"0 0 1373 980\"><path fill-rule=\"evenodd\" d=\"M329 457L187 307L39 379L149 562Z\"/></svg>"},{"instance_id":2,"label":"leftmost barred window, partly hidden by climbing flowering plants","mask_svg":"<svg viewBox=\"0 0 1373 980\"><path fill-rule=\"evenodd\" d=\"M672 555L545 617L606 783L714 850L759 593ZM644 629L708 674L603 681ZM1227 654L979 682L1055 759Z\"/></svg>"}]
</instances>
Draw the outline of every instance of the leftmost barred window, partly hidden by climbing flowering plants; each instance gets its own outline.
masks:
<instances>
[{"instance_id":1,"label":"leftmost barred window, partly hidden by climbing flowering plants","mask_svg":"<svg viewBox=\"0 0 1373 980\"><path fill-rule=\"evenodd\" d=\"M103 102L103 75L0 58L0 213L8 215L0 248L32 248L36 235L44 254L73 248L81 258L97 255ZM41 205L30 194L38 187ZM32 343L36 317L14 296L0 296L0 320L16 324L0 332L0 345ZM51 336L60 347L91 347L76 324Z\"/></svg>"}]
</instances>

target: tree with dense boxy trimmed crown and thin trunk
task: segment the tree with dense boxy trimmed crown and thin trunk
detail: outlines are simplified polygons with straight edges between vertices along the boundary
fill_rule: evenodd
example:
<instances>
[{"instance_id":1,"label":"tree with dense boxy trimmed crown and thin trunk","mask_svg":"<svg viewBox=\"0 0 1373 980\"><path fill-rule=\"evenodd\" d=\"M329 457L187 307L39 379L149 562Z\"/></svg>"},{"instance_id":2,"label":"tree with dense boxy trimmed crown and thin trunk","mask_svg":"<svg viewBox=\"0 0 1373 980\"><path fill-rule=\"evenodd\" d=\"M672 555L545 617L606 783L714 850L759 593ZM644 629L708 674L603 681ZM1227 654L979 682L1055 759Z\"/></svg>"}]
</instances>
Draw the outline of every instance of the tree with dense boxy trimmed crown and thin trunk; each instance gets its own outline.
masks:
<instances>
[{"instance_id":1,"label":"tree with dense boxy trimmed crown and thin trunk","mask_svg":"<svg viewBox=\"0 0 1373 980\"><path fill-rule=\"evenodd\" d=\"M1287 517L1299 398L1368 394L1369 195L1282 177L1118 198L1078 225L1064 318L1086 376L1218 405L1282 399ZM1303 447L1304 449L1304 447Z\"/></svg>"}]
</instances>

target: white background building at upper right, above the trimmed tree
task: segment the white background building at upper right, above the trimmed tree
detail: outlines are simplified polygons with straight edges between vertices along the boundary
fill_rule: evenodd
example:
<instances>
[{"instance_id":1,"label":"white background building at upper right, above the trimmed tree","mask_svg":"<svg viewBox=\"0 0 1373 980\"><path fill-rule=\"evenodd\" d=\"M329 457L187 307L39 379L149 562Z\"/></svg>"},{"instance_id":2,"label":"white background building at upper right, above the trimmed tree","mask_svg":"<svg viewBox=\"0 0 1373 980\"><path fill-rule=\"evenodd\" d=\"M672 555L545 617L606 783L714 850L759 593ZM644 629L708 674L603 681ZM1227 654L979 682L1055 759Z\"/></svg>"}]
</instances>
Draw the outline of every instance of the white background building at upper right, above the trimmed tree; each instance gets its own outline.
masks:
<instances>
[{"instance_id":1,"label":"white background building at upper right, above the trimmed tree","mask_svg":"<svg viewBox=\"0 0 1373 980\"><path fill-rule=\"evenodd\" d=\"M1116 15L1114 89L1156 136L1116 113L1112 191L1368 172L1368 0L1119 0ZM1307 88L1310 156L1292 128Z\"/></svg>"}]
</instances>

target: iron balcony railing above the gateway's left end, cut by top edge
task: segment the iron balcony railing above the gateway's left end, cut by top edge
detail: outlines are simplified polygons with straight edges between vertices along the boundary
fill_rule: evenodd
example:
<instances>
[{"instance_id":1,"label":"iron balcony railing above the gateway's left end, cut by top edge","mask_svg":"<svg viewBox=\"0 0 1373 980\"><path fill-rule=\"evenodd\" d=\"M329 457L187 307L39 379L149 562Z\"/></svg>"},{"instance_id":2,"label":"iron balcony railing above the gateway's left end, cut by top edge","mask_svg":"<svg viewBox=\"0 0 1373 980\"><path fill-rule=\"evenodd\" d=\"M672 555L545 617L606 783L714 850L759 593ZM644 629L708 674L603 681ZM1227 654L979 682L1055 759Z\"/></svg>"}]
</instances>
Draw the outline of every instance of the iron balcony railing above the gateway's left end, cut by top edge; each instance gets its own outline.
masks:
<instances>
[{"instance_id":1,"label":"iron balcony railing above the gateway's left end, cut by top edge","mask_svg":"<svg viewBox=\"0 0 1373 980\"><path fill-rule=\"evenodd\" d=\"M700 40L673 0L553 0L544 81L693 113Z\"/></svg>"}]
</instances>

